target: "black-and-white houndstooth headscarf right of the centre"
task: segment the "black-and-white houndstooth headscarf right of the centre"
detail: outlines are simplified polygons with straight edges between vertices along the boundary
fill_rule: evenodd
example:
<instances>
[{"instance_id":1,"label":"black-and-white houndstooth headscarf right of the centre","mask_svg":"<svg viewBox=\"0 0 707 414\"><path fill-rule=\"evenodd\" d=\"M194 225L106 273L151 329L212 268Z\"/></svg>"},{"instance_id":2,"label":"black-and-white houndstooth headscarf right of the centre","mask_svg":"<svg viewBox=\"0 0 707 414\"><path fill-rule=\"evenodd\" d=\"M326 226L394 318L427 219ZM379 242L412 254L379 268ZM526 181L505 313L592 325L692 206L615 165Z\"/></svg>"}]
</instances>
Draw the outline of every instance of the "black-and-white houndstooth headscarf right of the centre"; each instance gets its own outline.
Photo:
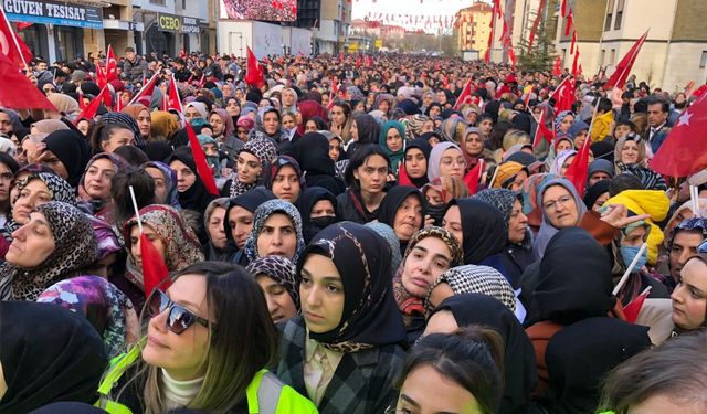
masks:
<instances>
[{"instance_id":1,"label":"black-and-white houndstooth headscarf right of the centre","mask_svg":"<svg viewBox=\"0 0 707 414\"><path fill-rule=\"evenodd\" d=\"M465 265L446 270L432 284L428 297L424 299L424 308L428 312L432 310L432 304L430 304L432 290L441 283L450 285L454 295L481 294L490 296L504 304L511 312L516 311L516 296L513 287L493 267Z\"/></svg>"}]
</instances>

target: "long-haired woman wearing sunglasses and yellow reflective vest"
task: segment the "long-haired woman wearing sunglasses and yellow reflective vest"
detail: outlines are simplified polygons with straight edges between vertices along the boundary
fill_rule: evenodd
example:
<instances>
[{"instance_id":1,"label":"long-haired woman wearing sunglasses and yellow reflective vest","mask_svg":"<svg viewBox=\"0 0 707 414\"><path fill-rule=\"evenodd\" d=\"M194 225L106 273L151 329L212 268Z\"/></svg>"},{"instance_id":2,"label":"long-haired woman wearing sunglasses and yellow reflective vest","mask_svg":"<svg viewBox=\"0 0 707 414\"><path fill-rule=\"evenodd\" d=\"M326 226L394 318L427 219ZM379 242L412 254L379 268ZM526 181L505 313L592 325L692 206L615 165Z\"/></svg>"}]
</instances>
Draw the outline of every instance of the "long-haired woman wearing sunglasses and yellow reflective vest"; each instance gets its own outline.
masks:
<instances>
[{"instance_id":1,"label":"long-haired woman wearing sunglasses and yellow reflective vest","mask_svg":"<svg viewBox=\"0 0 707 414\"><path fill-rule=\"evenodd\" d=\"M261 288L242 267L189 266L165 291L152 293L145 312L146 338L104 375L98 389L104 410L317 412L265 370L276 358L277 333ZM239 317L228 317L233 315Z\"/></svg>"}]
</instances>

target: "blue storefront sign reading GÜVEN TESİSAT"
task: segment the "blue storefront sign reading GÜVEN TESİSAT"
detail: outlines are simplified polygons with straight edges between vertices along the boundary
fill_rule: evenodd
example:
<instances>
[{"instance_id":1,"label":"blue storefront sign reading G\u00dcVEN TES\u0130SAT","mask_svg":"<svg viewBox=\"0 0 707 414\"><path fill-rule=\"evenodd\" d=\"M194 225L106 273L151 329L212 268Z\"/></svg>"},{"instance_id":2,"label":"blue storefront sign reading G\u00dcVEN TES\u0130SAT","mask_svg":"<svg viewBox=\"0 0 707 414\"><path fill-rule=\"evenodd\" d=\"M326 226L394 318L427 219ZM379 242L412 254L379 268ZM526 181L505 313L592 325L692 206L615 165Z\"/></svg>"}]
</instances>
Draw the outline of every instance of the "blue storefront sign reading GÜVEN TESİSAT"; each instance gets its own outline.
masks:
<instances>
[{"instance_id":1,"label":"blue storefront sign reading G\u00dcVEN TES\u0130SAT","mask_svg":"<svg viewBox=\"0 0 707 414\"><path fill-rule=\"evenodd\" d=\"M103 9L51 0L0 0L8 20L13 22L103 29Z\"/></svg>"}]
</instances>

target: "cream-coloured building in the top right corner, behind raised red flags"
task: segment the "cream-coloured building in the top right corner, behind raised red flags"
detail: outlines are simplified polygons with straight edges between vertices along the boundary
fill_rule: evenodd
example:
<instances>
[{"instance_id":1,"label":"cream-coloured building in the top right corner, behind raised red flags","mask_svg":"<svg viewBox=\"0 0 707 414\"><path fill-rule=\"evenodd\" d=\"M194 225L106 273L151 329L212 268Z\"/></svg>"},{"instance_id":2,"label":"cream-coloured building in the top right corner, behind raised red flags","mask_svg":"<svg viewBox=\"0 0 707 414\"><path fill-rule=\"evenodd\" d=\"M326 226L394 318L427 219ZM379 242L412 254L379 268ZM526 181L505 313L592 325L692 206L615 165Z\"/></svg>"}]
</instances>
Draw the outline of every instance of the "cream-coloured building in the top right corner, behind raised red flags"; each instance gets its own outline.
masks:
<instances>
[{"instance_id":1,"label":"cream-coloured building in the top right corner, behind raised red flags","mask_svg":"<svg viewBox=\"0 0 707 414\"><path fill-rule=\"evenodd\" d=\"M585 75L615 65L650 29L632 74L651 87L682 91L694 81L707 82L707 1L704 0L573 0L580 60ZM571 65L571 39L566 20L557 43L564 65Z\"/></svg>"}]
</instances>

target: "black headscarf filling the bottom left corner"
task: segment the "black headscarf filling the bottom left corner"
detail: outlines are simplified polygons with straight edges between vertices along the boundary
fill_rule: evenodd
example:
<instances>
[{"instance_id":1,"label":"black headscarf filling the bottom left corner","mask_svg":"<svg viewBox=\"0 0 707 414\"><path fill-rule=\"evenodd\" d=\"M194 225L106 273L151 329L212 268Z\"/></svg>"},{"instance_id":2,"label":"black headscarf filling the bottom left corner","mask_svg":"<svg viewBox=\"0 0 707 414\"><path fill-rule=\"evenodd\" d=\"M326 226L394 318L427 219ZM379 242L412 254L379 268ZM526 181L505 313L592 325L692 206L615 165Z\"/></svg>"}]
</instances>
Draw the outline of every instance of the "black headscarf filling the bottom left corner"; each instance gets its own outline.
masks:
<instances>
[{"instance_id":1,"label":"black headscarf filling the bottom left corner","mask_svg":"<svg viewBox=\"0 0 707 414\"><path fill-rule=\"evenodd\" d=\"M82 316L56 305L0 301L3 414L56 401L94 403L108 364L103 339Z\"/></svg>"}]
</instances>

